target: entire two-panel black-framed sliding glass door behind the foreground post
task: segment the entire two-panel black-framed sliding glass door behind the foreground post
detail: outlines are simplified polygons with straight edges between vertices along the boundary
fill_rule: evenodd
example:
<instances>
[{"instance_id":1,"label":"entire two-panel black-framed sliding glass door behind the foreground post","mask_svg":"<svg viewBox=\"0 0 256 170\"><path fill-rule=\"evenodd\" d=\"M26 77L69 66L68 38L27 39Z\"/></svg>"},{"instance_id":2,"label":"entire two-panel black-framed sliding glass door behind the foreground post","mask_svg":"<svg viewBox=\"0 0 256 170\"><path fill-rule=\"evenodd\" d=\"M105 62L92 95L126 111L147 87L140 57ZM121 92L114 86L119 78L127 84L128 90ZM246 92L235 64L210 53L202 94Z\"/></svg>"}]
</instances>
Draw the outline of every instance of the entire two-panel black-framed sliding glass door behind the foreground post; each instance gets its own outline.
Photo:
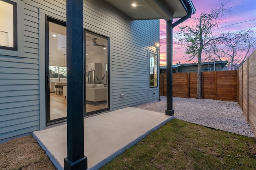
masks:
<instances>
[{"instance_id":1,"label":"entire two-panel black-framed sliding glass door behind the foreground post","mask_svg":"<svg viewBox=\"0 0 256 170\"><path fill-rule=\"evenodd\" d=\"M46 125L67 116L66 23L46 19ZM84 31L84 115L110 109L109 38Z\"/></svg>"}]
</instances>

